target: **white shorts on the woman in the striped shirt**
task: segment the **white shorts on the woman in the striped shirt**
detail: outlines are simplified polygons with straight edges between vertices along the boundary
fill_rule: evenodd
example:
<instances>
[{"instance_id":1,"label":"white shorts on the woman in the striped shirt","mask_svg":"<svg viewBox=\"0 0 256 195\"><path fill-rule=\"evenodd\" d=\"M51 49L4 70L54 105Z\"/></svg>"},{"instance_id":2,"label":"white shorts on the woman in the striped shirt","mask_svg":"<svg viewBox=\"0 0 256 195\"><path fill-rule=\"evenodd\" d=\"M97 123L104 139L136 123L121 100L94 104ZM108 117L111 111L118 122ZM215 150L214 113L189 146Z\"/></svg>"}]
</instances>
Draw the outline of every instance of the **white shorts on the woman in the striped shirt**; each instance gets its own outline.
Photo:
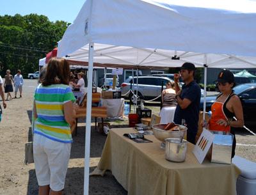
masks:
<instances>
[{"instance_id":1,"label":"white shorts on the woman in the striped shirt","mask_svg":"<svg viewBox=\"0 0 256 195\"><path fill-rule=\"evenodd\" d=\"M64 189L70 150L71 143L34 134L33 155L38 185L50 185L53 191Z\"/></svg>"}]
</instances>

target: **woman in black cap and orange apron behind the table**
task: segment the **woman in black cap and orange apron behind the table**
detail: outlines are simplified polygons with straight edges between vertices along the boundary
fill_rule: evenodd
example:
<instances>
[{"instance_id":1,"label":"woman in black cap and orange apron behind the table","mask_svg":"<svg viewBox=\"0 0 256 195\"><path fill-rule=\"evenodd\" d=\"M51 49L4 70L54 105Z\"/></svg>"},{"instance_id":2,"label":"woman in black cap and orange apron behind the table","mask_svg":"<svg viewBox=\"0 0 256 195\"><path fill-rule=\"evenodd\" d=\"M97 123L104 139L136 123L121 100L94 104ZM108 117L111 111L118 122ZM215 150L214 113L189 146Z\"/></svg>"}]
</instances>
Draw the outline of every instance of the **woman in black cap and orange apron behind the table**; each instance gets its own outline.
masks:
<instances>
[{"instance_id":1,"label":"woman in black cap and orange apron behind the table","mask_svg":"<svg viewBox=\"0 0 256 195\"><path fill-rule=\"evenodd\" d=\"M232 146L232 157L234 157L236 149L234 128L244 125L243 107L239 97L232 90L235 86L232 72L229 70L221 71L218 75L217 85L221 93L211 107L212 116L208 123L209 130L220 130L234 135ZM233 120L234 116L237 120Z\"/></svg>"}]
</instances>

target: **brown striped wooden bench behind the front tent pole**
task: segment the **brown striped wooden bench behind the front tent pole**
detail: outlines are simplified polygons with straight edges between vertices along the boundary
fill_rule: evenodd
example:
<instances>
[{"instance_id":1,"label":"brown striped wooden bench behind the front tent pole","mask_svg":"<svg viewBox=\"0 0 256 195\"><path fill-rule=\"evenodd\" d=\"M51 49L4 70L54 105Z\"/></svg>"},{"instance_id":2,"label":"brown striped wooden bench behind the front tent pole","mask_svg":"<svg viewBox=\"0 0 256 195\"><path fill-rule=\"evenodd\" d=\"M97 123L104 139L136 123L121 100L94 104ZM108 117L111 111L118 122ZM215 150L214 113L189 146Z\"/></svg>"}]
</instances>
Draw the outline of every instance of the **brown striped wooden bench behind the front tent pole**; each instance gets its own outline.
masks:
<instances>
[{"instance_id":1,"label":"brown striped wooden bench behind the front tent pole","mask_svg":"<svg viewBox=\"0 0 256 195\"><path fill-rule=\"evenodd\" d=\"M77 134L77 121L78 118L86 117L86 100L87 97L84 95L83 100L79 104L79 107L76 108L76 123L71 127L71 134ZM100 93L92 93L92 103L98 104L100 102ZM97 118L101 118L102 125L104 123L103 118L107 118L107 107L92 107L92 117L95 118L95 129L97 129Z\"/></svg>"}]
</instances>

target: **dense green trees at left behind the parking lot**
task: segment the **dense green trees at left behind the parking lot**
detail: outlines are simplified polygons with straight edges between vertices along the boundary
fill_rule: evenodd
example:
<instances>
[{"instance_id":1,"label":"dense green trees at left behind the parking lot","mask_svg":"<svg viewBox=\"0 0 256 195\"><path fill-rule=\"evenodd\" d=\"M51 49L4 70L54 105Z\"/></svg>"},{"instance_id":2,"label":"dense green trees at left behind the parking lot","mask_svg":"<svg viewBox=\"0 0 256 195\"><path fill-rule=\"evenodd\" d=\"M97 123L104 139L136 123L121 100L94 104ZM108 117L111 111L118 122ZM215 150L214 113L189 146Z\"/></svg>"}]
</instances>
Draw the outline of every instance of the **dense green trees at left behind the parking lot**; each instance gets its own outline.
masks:
<instances>
[{"instance_id":1,"label":"dense green trees at left behind the parking lot","mask_svg":"<svg viewBox=\"0 0 256 195\"><path fill-rule=\"evenodd\" d=\"M0 16L0 61L4 75L7 69L24 77L38 70L38 61L57 47L69 23L51 22L44 15Z\"/></svg>"}]
</instances>

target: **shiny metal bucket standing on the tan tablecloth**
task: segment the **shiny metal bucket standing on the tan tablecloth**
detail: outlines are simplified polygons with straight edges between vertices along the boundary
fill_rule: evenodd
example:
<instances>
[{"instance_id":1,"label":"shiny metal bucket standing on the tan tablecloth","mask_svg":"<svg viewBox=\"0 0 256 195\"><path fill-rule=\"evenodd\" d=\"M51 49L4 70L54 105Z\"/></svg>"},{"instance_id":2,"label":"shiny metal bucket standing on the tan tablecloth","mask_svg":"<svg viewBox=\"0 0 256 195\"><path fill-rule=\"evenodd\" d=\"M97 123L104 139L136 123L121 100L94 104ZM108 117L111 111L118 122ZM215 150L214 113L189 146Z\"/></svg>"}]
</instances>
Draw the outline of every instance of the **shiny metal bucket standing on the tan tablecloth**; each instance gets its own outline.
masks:
<instances>
[{"instance_id":1,"label":"shiny metal bucket standing on the tan tablecloth","mask_svg":"<svg viewBox=\"0 0 256 195\"><path fill-rule=\"evenodd\" d=\"M188 142L179 138L165 139L165 159L172 162L184 162L186 159Z\"/></svg>"}]
</instances>

